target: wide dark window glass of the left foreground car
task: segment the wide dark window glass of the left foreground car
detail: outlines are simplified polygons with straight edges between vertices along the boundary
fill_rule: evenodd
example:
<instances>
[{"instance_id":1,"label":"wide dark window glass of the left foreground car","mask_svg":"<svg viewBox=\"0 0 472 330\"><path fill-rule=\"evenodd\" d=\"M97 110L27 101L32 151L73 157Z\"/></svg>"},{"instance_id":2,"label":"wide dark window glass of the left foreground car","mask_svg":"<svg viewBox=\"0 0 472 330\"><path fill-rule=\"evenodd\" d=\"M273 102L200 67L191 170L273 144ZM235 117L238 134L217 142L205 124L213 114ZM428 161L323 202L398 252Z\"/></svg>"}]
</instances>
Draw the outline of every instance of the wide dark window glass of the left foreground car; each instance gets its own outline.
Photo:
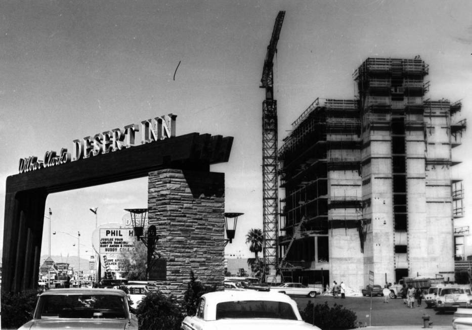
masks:
<instances>
[{"instance_id":1,"label":"wide dark window glass of the left foreground car","mask_svg":"<svg viewBox=\"0 0 472 330\"><path fill-rule=\"evenodd\" d=\"M44 295L34 318L125 318L125 306L113 295Z\"/></svg>"}]
</instances>

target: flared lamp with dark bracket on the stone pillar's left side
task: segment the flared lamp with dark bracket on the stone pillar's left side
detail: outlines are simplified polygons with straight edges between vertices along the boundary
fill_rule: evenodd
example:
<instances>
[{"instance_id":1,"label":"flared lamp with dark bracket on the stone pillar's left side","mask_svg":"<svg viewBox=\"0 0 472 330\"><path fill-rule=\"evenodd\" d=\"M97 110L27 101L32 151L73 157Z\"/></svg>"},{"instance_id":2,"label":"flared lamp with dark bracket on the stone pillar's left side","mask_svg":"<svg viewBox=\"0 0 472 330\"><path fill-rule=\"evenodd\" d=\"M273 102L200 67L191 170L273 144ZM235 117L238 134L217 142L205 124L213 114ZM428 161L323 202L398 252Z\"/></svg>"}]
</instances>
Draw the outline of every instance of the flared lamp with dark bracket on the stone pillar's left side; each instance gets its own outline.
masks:
<instances>
[{"instance_id":1,"label":"flared lamp with dark bracket on the stone pillar's left side","mask_svg":"<svg viewBox=\"0 0 472 330\"><path fill-rule=\"evenodd\" d=\"M154 266L157 259L160 259L161 255L156 251L156 243L159 240L159 236L156 232L156 226L150 225L147 230L144 230L146 223L146 217L148 209L124 209L130 212L131 223L135 232L136 239L144 243L147 248L147 269L146 273L149 278L149 270Z\"/></svg>"}]
</instances>

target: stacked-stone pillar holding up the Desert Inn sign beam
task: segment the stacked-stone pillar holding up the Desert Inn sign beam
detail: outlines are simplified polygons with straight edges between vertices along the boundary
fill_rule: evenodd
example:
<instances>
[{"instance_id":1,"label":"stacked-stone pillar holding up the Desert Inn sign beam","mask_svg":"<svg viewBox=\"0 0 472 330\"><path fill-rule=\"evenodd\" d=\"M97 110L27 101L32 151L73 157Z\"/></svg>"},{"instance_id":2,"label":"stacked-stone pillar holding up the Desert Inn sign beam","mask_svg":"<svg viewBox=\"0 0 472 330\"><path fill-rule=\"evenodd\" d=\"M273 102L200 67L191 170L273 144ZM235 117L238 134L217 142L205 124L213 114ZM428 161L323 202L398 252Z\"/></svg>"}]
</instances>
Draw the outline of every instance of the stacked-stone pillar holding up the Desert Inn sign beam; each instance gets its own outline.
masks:
<instances>
[{"instance_id":1,"label":"stacked-stone pillar holding up the Desert Inn sign beam","mask_svg":"<svg viewBox=\"0 0 472 330\"><path fill-rule=\"evenodd\" d=\"M182 299L191 270L202 284L223 289L225 174L150 172L148 209L159 235L156 249L167 261L159 290Z\"/></svg>"}]
</instances>

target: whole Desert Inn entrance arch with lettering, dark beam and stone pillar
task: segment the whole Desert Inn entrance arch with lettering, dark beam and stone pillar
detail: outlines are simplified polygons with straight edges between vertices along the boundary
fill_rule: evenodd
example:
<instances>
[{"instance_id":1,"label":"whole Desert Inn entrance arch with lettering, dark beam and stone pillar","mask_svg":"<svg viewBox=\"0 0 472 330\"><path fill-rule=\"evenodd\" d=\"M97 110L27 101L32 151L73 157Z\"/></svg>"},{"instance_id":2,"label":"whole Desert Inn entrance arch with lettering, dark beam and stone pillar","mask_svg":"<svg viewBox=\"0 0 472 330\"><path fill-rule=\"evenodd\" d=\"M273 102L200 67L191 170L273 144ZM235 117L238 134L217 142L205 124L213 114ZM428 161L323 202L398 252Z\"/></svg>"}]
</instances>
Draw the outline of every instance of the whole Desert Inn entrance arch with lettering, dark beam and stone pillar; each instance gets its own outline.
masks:
<instances>
[{"instance_id":1,"label":"whole Desert Inn entrance arch with lettering, dark beam and stone pillar","mask_svg":"<svg viewBox=\"0 0 472 330\"><path fill-rule=\"evenodd\" d=\"M148 177L148 222L167 262L158 288L183 296L191 270L222 287L225 174L210 172L210 165L228 162L233 137L177 136L176 118L144 120L76 139L71 152L21 159L19 173L6 180L2 289L37 287L49 194L139 177Z\"/></svg>"}]
</instances>

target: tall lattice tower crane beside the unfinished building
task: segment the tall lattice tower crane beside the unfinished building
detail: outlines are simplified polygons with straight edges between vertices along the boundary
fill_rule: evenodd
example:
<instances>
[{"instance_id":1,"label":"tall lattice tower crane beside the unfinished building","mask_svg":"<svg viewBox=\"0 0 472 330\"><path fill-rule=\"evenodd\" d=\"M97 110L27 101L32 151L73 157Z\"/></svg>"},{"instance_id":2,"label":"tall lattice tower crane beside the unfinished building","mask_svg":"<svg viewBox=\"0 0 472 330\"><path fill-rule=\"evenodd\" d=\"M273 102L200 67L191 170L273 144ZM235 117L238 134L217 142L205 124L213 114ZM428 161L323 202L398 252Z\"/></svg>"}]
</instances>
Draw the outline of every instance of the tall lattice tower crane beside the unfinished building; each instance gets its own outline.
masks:
<instances>
[{"instance_id":1,"label":"tall lattice tower crane beside the unfinished building","mask_svg":"<svg viewBox=\"0 0 472 330\"><path fill-rule=\"evenodd\" d=\"M275 275L278 261L277 101L274 100L273 59L284 16L285 12L280 11L275 19L260 86L266 89L262 104L263 274L269 270L271 275Z\"/></svg>"}]
</instances>

